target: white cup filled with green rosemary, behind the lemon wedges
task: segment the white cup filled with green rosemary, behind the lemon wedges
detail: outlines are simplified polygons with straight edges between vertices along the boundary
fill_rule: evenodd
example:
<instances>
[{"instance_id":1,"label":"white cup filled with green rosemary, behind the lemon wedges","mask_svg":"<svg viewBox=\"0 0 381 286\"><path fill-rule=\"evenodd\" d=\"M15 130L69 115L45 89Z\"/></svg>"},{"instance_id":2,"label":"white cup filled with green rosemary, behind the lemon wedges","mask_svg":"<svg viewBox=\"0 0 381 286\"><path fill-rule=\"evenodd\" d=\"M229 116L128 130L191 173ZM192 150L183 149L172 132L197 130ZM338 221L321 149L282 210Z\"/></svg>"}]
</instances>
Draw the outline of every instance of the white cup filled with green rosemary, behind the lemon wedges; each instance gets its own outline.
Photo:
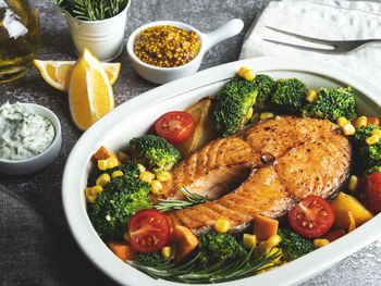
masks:
<instances>
[{"instance_id":1,"label":"white cup filled with green rosemary, behind the lemon wedges","mask_svg":"<svg viewBox=\"0 0 381 286\"><path fill-rule=\"evenodd\" d=\"M67 21L75 52L89 49L100 61L111 61L123 50L131 0L54 0Z\"/></svg>"}]
</instances>

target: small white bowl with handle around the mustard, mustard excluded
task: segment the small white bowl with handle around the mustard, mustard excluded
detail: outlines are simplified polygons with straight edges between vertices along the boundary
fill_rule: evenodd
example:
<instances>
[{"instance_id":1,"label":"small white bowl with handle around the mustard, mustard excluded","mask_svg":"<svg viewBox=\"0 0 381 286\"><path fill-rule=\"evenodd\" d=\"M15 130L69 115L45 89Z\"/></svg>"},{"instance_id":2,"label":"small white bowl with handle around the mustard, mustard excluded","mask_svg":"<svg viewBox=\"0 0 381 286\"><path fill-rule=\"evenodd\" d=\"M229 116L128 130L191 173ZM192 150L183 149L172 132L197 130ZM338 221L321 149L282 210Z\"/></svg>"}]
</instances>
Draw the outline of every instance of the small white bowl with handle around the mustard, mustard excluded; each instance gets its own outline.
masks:
<instances>
[{"instance_id":1,"label":"small white bowl with handle around the mustard, mustard excluded","mask_svg":"<svg viewBox=\"0 0 381 286\"><path fill-rule=\"evenodd\" d=\"M201 40L201 47L196 55L190 62L175 66L175 67L158 67L155 65L147 64L138 59L134 52L134 41L136 36L144 29L159 26L159 25L171 25L177 28L183 28L185 30L195 32ZM199 69L204 54L216 43L225 40L230 37L237 35L244 27L244 22L239 18L233 18L229 21L226 24L222 25L218 29L213 30L210 34L204 34L196 29L195 27L176 22L176 21L157 21L151 22L146 25L143 25L135 29L133 34L128 37L128 41L126 45L127 52L130 59L133 62L135 71L144 78L155 84L165 84L168 82L184 77L186 75L190 75Z\"/></svg>"}]
</instances>

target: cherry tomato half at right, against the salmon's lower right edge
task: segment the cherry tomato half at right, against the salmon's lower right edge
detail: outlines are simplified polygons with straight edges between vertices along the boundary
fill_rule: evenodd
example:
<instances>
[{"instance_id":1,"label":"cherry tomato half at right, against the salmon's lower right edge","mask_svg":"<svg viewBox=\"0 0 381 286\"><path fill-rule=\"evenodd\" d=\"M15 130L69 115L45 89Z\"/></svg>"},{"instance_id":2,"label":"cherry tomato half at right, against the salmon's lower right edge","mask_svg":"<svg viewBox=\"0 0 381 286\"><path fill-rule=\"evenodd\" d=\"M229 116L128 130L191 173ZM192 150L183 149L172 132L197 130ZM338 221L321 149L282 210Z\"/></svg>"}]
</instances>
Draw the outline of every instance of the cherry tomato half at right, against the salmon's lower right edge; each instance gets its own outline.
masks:
<instances>
[{"instance_id":1,"label":"cherry tomato half at right, against the salmon's lower right edge","mask_svg":"<svg viewBox=\"0 0 381 286\"><path fill-rule=\"evenodd\" d=\"M308 238L327 233L333 221L332 206L318 196L306 197L288 212L290 225L296 233Z\"/></svg>"}]
</instances>

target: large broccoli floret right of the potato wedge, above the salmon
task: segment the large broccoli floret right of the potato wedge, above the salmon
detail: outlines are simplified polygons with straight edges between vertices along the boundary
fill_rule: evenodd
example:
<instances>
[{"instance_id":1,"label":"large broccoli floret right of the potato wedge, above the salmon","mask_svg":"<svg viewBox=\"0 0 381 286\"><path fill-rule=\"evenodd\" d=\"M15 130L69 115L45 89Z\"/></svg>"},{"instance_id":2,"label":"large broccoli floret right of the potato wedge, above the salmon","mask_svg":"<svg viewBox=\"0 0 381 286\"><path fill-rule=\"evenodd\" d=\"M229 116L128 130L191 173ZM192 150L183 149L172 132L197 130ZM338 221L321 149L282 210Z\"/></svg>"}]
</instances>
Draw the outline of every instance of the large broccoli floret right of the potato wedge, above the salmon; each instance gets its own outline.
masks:
<instances>
[{"instance_id":1,"label":"large broccoli floret right of the potato wedge, above the salmon","mask_svg":"<svg viewBox=\"0 0 381 286\"><path fill-rule=\"evenodd\" d=\"M235 76L216 96L211 114L216 130L226 137L243 127L249 109L256 102L258 87L255 80Z\"/></svg>"}]
</instances>

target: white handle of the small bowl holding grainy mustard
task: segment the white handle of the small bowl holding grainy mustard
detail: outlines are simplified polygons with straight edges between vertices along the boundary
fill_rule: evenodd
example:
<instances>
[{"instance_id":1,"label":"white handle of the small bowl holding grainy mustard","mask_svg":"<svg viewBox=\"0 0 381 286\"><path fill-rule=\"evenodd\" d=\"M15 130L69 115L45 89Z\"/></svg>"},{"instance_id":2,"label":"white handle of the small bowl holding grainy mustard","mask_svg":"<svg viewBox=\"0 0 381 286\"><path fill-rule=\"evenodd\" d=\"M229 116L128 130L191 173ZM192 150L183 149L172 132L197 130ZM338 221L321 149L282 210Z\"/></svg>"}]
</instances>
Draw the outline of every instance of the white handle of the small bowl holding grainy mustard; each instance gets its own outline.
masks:
<instances>
[{"instance_id":1,"label":"white handle of the small bowl holding grainy mustard","mask_svg":"<svg viewBox=\"0 0 381 286\"><path fill-rule=\"evenodd\" d=\"M233 18L229 21L212 33L204 34L205 46L202 47L202 49L207 51L216 43L219 43L220 41L223 41L230 37L237 35L243 28L244 22L241 18Z\"/></svg>"}]
</instances>

